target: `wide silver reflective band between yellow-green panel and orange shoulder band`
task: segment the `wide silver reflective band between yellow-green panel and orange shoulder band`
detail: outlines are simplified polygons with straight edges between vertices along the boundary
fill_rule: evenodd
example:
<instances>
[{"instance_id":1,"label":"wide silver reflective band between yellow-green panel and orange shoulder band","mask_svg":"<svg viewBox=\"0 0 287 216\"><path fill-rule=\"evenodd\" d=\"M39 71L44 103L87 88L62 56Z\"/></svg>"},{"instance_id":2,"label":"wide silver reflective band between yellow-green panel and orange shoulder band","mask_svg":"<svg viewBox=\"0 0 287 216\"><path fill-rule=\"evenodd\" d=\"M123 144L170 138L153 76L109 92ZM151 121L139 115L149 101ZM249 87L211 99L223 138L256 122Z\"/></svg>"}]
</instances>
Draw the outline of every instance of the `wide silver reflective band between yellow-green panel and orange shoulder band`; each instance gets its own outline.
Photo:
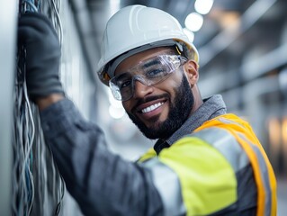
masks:
<instances>
[{"instance_id":1,"label":"wide silver reflective band between yellow-green panel and orange shoulder band","mask_svg":"<svg viewBox=\"0 0 287 216\"><path fill-rule=\"evenodd\" d=\"M229 161L235 173L249 164L247 153L227 130L213 127L200 130L189 136L200 138L217 148Z\"/></svg>"}]
</instances>

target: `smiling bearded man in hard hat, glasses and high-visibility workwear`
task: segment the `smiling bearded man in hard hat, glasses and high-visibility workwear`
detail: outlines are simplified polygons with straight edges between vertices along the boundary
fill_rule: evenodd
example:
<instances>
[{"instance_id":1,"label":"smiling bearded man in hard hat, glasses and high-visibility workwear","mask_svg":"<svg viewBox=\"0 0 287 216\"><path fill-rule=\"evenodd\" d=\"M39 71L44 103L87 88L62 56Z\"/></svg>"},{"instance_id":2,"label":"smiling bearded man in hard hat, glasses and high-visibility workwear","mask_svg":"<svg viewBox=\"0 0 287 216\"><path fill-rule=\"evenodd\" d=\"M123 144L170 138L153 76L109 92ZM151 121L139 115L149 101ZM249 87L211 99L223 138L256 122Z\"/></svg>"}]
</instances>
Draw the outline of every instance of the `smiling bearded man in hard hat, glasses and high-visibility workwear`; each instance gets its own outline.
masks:
<instances>
[{"instance_id":1,"label":"smiling bearded man in hard hat, glasses and high-visibility workwear","mask_svg":"<svg viewBox=\"0 0 287 216\"><path fill-rule=\"evenodd\" d=\"M202 100L199 57L179 23L155 8L114 14L98 74L154 149L131 163L112 154L58 80L49 21L25 14L27 87L67 189L85 215L275 215L274 172L246 121L220 95Z\"/></svg>"}]
</instances>

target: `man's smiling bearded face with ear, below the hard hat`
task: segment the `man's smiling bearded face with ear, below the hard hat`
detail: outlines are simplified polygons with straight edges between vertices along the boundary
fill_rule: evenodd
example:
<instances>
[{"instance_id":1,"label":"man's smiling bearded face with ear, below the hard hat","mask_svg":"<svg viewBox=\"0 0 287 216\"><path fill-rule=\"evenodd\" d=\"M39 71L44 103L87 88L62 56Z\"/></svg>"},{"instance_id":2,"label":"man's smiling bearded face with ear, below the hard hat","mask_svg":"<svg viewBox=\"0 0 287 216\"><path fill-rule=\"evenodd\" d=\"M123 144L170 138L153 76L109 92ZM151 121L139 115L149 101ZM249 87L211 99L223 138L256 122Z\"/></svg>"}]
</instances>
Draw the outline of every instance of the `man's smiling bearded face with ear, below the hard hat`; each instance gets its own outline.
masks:
<instances>
[{"instance_id":1,"label":"man's smiling bearded face with ear, below the hard hat","mask_svg":"<svg viewBox=\"0 0 287 216\"><path fill-rule=\"evenodd\" d=\"M202 104L197 88L190 87L197 82L197 64L180 56L176 49L148 49L126 58L116 68L111 81L119 82L119 77L129 74L130 68L136 69L133 80L123 89L131 88L131 98L122 104L149 139L167 139Z\"/></svg>"}]
</instances>

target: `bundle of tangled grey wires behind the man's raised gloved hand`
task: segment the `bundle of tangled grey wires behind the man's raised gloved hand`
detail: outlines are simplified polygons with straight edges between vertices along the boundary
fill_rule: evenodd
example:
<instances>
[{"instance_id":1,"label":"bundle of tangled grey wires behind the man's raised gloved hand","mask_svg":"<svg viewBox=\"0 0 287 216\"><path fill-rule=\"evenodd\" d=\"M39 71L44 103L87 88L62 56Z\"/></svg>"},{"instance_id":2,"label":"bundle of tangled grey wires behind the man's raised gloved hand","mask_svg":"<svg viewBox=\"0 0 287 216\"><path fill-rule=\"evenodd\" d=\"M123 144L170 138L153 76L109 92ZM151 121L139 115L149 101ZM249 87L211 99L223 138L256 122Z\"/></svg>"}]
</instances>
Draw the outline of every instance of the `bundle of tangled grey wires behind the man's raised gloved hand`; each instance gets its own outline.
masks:
<instances>
[{"instance_id":1,"label":"bundle of tangled grey wires behind the man's raised gloved hand","mask_svg":"<svg viewBox=\"0 0 287 216\"><path fill-rule=\"evenodd\" d=\"M62 42L59 1L20 0L20 15L27 11L46 14ZM12 215L58 215L65 184L46 146L38 108L30 103L25 80L24 47L17 53L13 94L13 193Z\"/></svg>"}]
</instances>

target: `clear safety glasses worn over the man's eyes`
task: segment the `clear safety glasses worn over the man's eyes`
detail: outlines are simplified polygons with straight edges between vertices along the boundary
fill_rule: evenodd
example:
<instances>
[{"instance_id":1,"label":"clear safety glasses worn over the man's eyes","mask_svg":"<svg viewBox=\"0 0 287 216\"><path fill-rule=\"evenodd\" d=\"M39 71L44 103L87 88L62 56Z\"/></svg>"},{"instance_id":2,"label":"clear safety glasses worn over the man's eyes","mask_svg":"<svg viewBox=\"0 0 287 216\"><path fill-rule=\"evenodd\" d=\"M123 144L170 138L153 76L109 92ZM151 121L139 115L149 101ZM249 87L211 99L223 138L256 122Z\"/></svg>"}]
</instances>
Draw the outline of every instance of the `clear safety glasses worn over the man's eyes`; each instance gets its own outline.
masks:
<instances>
[{"instance_id":1,"label":"clear safety glasses worn over the man's eyes","mask_svg":"<svg viewBox=\"0 0 287 216\"><path fill-rule=\"evenodd\" d=\"M125 73L112 77L109 81L112 95L119 101L130 100L134 94L135 81L148 86L156 85L166 80L186 61L187 58L180 55L160 55L139 62Z\"/></svg>"}]
</instances>

